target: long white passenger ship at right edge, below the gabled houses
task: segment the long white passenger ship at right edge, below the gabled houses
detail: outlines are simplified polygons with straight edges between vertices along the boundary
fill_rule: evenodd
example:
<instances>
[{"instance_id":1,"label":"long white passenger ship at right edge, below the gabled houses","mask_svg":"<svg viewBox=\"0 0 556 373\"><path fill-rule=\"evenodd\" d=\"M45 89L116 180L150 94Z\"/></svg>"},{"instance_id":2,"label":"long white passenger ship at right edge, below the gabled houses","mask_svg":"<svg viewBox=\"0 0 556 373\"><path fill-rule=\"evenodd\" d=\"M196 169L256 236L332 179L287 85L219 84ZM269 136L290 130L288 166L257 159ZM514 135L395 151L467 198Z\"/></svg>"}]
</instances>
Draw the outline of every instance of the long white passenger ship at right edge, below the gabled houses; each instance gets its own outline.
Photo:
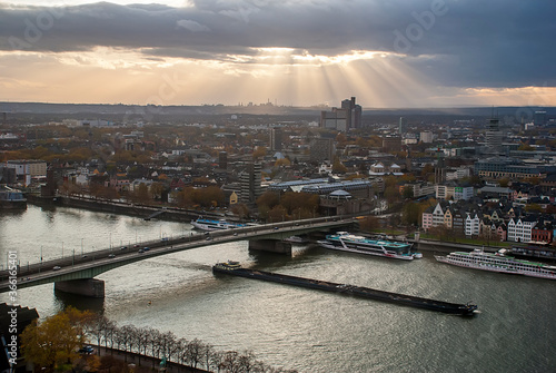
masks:
<instances>
[{"instance_id":1,"label":"long white passenger ship at right edge, below the gabled houses","mask_svg":"<svg viewBox=\"0 0 556 373\"><path fill-rule=\"evenodd\" d=\"M556 278L556 266L538 262L516 259L512 256L505 256L505 249L500 249L496 254L492 254L476 248L470 253L455 252L446 256L435 255L435 258L438 262L448 263L460 267L542 278Z\"/></svg>"}]
</instances>

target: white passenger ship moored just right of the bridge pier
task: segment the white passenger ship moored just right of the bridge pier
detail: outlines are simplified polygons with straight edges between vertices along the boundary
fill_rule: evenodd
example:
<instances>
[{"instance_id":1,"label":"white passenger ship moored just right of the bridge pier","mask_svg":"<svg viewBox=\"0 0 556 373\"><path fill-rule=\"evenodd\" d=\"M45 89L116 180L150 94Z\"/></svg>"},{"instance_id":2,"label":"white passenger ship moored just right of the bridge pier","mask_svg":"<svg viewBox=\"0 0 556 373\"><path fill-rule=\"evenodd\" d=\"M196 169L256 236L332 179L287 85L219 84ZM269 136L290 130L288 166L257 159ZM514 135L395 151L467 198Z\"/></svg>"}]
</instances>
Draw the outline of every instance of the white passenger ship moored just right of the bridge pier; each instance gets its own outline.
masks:
<instances>
[{"instance_id":1,"label":"white passenger ship moored just right of the bridge pier","mask_svg":"<svg viewBox=\"0 0 556 373\"><path fill-rule=\"evenodd\" d=\"M388 239L373 239L357 236L347 232L338 232L327 235L326 239L317 242L320 246L341 252L384 256L389 258L413 261L421 258L423 254L414 252L413 244L400 243Z\"/></svg>"}]
</instances>

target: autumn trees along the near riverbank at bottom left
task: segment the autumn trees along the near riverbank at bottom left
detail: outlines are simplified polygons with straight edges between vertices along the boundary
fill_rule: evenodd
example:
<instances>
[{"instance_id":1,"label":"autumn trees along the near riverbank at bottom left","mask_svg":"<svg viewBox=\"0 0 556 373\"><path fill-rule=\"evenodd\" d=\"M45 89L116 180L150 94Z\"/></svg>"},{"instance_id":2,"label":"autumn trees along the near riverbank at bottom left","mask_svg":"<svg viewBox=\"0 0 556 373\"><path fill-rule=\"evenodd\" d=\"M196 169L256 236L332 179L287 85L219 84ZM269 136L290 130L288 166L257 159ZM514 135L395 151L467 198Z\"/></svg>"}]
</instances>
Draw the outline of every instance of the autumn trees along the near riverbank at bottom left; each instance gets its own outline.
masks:
<instances>
[{"instance_id":1,"label":"autumn trees along the near riverbank at bottom left","mask_svg":"<svg viewBox=\"0 0 556 373\"><path fill-rule=\"evenodd\" d=\"M79 349L95 342L107 349L166 359L166 362L210 372L297 373L270 366L257 360L250 351L221 352L197 338L179 338L172 332L152 327L119 326L103 315L72 307L29 325L21 334L21 342L23 356L44 373L96 371L95 367L100 366L99 356L88 356L90 361L86 365L78 363L83 359L78 353Z\"/></svg>"}]
</instances>

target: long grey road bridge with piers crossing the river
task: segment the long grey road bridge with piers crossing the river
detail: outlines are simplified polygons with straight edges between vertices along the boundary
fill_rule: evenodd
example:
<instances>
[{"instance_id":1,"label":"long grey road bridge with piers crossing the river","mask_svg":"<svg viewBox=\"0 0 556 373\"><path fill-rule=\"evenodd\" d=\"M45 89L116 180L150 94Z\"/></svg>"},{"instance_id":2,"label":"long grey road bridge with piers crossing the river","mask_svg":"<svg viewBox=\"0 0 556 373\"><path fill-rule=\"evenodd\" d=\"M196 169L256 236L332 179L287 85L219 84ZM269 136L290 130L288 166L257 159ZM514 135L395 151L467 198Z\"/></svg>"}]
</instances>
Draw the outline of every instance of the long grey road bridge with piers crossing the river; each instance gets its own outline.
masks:
<instances>
[{"instance_id":1,"label":"long grey road bridge with piers crossing the river","mask_svg":"<svg viewBox=\"0 0 556 373\"><path fill-rule=\"evenodd\" d=\"M48 262L18 265L17 288L54 283L59 291L93 297L105 296L105 283L97 275L120 266L186 249L234 241L249 241L249 248L291 255L291 245L284 242L294 235L327 232L349 226L354 218L326 217L296 222L256 225L234 229L190 234L172 239L146 242L132 246L100 249L86 256L70 256ZM148 249L146 249L148 248ZM10 273L0 272L0 293L10 291Z\"/></svg>"}]
</instances>

